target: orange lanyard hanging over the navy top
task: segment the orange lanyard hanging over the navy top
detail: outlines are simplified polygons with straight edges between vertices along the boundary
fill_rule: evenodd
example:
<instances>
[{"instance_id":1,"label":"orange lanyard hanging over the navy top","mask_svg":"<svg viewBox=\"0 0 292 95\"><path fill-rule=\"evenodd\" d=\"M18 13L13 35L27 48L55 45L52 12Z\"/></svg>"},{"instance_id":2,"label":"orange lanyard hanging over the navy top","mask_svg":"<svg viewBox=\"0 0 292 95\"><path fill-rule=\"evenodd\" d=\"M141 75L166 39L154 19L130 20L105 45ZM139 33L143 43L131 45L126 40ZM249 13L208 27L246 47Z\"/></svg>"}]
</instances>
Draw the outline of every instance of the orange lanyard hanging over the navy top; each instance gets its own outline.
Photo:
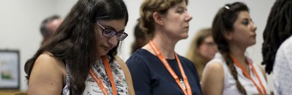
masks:
<instances>
[{"instance_id":1,"label":"orange lanyard hanging over the navy top","mask_svg":"<svg viewBox=\"0 0 292 95\"><path fill-rule=\"evenodd\" d=\"M192 90L190 88L190 83L188 82L186 74L183 71L183 66L181 66L181 62L179 61L179 57L177 57L177 54L175 54L175 58L177 59L177 64L179 64L179 70L181 71L181 76L183 77L184 82L182 80L179 80L179 77L177 77L177 74L175 74L175 71L172 70L172 68L170 67L170 65L168 64L166 59L164 58L164 55L162 55L162 53L160 53L159 49L154 44L154 42L151 40L151 41L149 41L149 44L150 44L151 48L153 49L153 51L155 52L155 55L157 55L159 57L160 61L164 64L164 66L166 67L168 72L170 72L172 77L175 79L175 81L177 82L177 85L179 85L179 87L181 87L181 90L183 91L183 93L185 95L191 95Z\"/></svg>"}]
</instances>

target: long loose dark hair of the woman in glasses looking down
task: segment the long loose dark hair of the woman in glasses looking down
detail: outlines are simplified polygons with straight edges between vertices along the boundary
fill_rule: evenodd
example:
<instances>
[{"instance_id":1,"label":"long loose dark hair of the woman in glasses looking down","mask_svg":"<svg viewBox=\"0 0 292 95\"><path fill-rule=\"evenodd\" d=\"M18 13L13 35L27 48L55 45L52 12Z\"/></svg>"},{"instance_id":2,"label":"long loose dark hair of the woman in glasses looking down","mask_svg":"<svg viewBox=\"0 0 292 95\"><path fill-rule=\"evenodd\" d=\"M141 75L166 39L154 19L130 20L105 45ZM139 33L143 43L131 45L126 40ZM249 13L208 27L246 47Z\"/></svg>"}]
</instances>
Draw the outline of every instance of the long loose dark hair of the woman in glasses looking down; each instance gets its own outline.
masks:
<instances>
[{"instance_id":1,"label":"long loose dark hair of the woman in glasses looking down","mask_svg":"<svg viewBox=\"0 0 292 95\"><path fill-rule=\"evenodd\" d=\"M96 21L122 18L125 19L126 25L128 12L122 0L79 0L58 27L53 38L25 63L27 79L30 79L36 58L44 52L49 52L68 66L70 94L82 94L89 69L96 61ZM117 54L117 48L118 45L107 53L111 62Z\"/></svg>"}]
</instances>

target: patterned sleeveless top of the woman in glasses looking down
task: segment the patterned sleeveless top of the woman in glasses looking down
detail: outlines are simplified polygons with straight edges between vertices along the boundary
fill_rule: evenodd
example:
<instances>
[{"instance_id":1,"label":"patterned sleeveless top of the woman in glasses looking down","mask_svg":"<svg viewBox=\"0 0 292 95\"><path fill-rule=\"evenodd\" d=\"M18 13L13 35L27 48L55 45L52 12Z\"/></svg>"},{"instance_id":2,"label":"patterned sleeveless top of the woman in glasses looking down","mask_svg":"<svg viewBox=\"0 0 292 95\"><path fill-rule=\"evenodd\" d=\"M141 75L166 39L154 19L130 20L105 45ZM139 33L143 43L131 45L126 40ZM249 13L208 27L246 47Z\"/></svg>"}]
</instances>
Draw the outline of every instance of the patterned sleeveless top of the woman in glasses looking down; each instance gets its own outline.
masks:
<instances>
[{"instance_id":1,"label":"patterned sleeveless top of the woman in glasses looking down","mask_svg":"<svg viewBox=\"0 0 292 95\"><path fill-rule=\"evenodd\" d=\"M124 72L122 67L116 62L110 63L111 71L113 73L113 78L115 80L115 85L117 87L118 95L126 95L128 94L128 83L126 82ZM106 75L106 71L104 69L104 65L102 64L102 59L97 60L96 64L92 66L93 71L98 75L98 78L102 80L102 84L106 87L106 90L109 92L109 95L113 94L111 82L109 81L109 77ZM67 74L69 69L67 68ZM69 95L69 78L67 75L66 85L63 88L63 95ZM85 81L85 91L83 95L102 95L102 90L98 86L98 83L93 80L93 78L88 74L87 80Z\"/></svg>"}]
</instances>

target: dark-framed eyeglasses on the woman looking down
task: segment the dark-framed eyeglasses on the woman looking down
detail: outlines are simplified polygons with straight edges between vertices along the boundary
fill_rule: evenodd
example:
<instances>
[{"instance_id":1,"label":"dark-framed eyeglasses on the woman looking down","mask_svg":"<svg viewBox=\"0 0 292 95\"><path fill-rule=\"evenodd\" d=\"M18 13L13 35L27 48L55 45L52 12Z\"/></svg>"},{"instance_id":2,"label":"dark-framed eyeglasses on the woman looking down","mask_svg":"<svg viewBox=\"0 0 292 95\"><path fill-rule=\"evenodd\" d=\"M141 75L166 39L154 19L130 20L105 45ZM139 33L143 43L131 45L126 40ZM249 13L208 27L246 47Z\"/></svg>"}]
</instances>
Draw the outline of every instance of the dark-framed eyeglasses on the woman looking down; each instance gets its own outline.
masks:
<instances>
[{"instance_id":1,"label":"dark-framed eyeglasses on the woman looking down","mask_svg":"<svg viewBox=\"0 0 292 95\"><path fill-rule=\"evenodd\" d=\"M102 27L102 35L106 38L111 38L113 36L117 36L117 40L122 41L128 36L128 34L125 33L124 31L117 32L117 31L114 31L113 29L103 27L98 22L96 22L96 23L98 24L98 26Z\"/></svg>"}]
</instances>

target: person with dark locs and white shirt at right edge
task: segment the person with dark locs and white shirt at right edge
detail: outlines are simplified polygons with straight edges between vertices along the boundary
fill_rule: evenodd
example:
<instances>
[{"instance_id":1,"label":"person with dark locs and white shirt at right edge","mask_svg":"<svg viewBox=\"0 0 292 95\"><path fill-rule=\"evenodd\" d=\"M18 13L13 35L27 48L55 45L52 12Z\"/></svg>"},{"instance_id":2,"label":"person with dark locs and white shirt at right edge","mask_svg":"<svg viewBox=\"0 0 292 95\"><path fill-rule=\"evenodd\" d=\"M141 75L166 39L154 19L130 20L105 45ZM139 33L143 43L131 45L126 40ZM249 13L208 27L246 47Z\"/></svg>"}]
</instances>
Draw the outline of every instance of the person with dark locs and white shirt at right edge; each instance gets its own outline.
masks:
<instances>
[{"instance_id":1,"label":"person with dark locs and white shirt at right edge","mask_svg":"<svg viewBox=\"0 0 292 95\"><path fill-rule=\"evenodd\" d=\"M273 72L274 94L292 94L292 1L277 0L267 20L262 43L262 64Z\"/></svg>"}]
</instances>

